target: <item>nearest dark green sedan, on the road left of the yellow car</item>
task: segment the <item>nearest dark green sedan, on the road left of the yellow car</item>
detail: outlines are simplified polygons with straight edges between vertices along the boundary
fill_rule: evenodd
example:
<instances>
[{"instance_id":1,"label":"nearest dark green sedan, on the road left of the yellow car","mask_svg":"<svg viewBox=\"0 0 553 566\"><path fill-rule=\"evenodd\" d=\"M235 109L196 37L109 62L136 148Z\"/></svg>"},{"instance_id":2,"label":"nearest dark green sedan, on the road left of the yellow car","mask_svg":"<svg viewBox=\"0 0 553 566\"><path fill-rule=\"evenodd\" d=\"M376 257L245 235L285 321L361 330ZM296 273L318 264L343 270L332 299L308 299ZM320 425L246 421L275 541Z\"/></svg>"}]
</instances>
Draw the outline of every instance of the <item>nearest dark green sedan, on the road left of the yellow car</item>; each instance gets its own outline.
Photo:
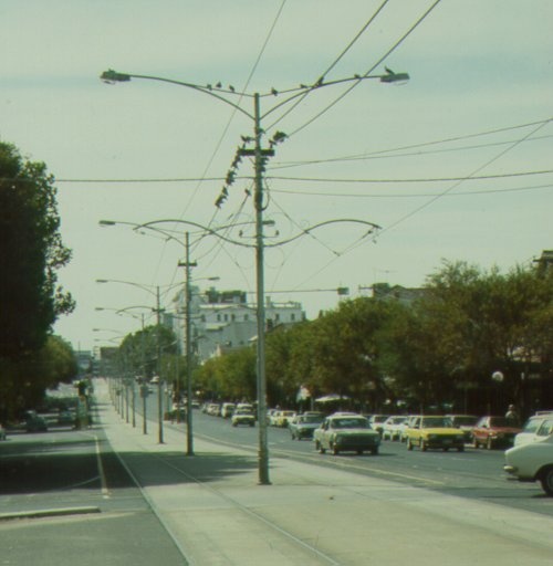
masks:
<instances>
[{"instance_id":1,"label":"nearest dark green sedan, on the road left of the yellow car","mask_svg":"<svg viewBox=\"0 0 553 566\"><path fill-rule=\"evenodd\" d=\"M362 454L365 450L378 453L380 434L371 429L362 415L331 415L313 432L315 449L322 454L330 450L333 454L353 451Z\"/></svg>"}]
</instances>

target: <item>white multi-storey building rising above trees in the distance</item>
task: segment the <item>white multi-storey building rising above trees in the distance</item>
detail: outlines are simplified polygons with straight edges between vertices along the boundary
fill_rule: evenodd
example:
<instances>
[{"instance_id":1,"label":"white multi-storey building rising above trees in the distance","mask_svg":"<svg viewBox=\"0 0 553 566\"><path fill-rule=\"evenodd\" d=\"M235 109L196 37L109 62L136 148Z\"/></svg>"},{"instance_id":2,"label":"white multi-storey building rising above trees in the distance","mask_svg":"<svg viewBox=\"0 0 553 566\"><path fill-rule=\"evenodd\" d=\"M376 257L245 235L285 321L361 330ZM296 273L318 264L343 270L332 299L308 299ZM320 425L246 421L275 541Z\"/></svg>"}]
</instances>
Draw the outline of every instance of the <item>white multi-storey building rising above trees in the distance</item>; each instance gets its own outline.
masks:
<instances>
[{"instance_id":1,"label":"white multi-storey building rising above trees in the distance","mask_svg":"<svg viewBox=\"0 0 553 566\"><path fill-rule=\"evenodd\" d=\"M185 291L180 291L174 301L175 311L179 314L174 317L173 329L185 352ZM269 297L265 298L267 328L292 325L303 319L305 313L301 303L273 303ZM257 306L248 303L244 291L221 292L210 289L200 293L198 287L192 287L190 321L192 352L200 360L243 348L258 334Z\"/></svg>"}]
</instances>

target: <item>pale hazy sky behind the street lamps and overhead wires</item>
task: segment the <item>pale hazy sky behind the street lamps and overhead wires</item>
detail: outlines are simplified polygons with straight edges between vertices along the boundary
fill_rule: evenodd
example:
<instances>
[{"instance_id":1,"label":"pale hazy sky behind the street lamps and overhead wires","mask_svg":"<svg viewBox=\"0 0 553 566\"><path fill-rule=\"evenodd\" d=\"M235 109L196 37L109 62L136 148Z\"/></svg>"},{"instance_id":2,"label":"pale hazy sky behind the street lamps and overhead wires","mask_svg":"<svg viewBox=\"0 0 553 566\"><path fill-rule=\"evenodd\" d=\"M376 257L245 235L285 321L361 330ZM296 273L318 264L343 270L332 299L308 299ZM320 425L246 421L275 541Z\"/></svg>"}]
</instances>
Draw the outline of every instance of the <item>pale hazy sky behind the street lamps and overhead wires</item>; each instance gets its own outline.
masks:
<instances>
[{"instance_id":1,"label":"pale hazy sky behind the street lamps and overhead wires","mask_svg":"<svg viewBox=\"0 0 553 566\"><path fill-rule=\"evenodd\" d=\"M215 206L254 93L262 146L288 136L263 182L273 302L313 318L445 261L532 265L553 248L552 21L551 0L0 0L0 142L46 164L73 251L54 332L92 349L153 324L185 232L195 285L255 301L250 158ZM386 67L410 80L327 84Z\"/></svg>"}]
</instances>

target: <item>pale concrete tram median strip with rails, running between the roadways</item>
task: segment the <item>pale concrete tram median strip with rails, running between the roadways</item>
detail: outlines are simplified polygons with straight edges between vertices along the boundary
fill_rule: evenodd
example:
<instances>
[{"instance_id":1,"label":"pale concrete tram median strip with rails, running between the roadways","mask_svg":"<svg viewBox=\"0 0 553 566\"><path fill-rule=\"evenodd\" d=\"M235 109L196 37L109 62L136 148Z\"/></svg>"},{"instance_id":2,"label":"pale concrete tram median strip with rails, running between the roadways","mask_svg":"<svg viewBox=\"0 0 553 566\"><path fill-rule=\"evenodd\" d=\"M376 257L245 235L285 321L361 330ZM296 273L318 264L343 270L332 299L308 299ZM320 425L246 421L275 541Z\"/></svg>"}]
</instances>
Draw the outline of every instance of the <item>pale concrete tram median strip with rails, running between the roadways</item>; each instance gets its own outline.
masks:
<instances>
[{"instance_id":1,"label":"pale concrete tram median strip with rails, running between the roadways","mask_svg":"<svg viewBox=\"0 0 553 566\"><path fill-rule=\"evenodd\" d=\"M111 408L102 418L192 565L552 563L547 516L279 458L262 486L251 452L196 439L186 457L182 430L160 446Z\"/></svg>"}]
</instances>

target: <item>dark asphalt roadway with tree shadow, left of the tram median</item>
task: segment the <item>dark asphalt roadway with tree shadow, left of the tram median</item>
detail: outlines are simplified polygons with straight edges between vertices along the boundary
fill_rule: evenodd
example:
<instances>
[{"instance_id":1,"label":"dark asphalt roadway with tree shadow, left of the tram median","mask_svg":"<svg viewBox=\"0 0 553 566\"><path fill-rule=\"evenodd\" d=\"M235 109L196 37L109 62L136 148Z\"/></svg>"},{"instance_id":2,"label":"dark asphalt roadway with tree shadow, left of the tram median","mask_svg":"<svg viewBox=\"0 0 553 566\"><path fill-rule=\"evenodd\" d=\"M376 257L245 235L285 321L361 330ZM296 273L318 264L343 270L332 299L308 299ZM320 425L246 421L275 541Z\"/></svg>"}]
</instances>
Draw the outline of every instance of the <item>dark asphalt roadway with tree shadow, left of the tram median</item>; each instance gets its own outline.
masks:
<instances>
[{"instance_id":1,"label":"dark asphalt roadway with tree shadow, left of the tram median","mask_svg":"<svg viewBox=\"0 0 553 566\"><path fill-rule=\"evenodd\" d=\"M8 438L0 443L0 564L186 564L102 429Z\"/></svg>"}]
</instances>

